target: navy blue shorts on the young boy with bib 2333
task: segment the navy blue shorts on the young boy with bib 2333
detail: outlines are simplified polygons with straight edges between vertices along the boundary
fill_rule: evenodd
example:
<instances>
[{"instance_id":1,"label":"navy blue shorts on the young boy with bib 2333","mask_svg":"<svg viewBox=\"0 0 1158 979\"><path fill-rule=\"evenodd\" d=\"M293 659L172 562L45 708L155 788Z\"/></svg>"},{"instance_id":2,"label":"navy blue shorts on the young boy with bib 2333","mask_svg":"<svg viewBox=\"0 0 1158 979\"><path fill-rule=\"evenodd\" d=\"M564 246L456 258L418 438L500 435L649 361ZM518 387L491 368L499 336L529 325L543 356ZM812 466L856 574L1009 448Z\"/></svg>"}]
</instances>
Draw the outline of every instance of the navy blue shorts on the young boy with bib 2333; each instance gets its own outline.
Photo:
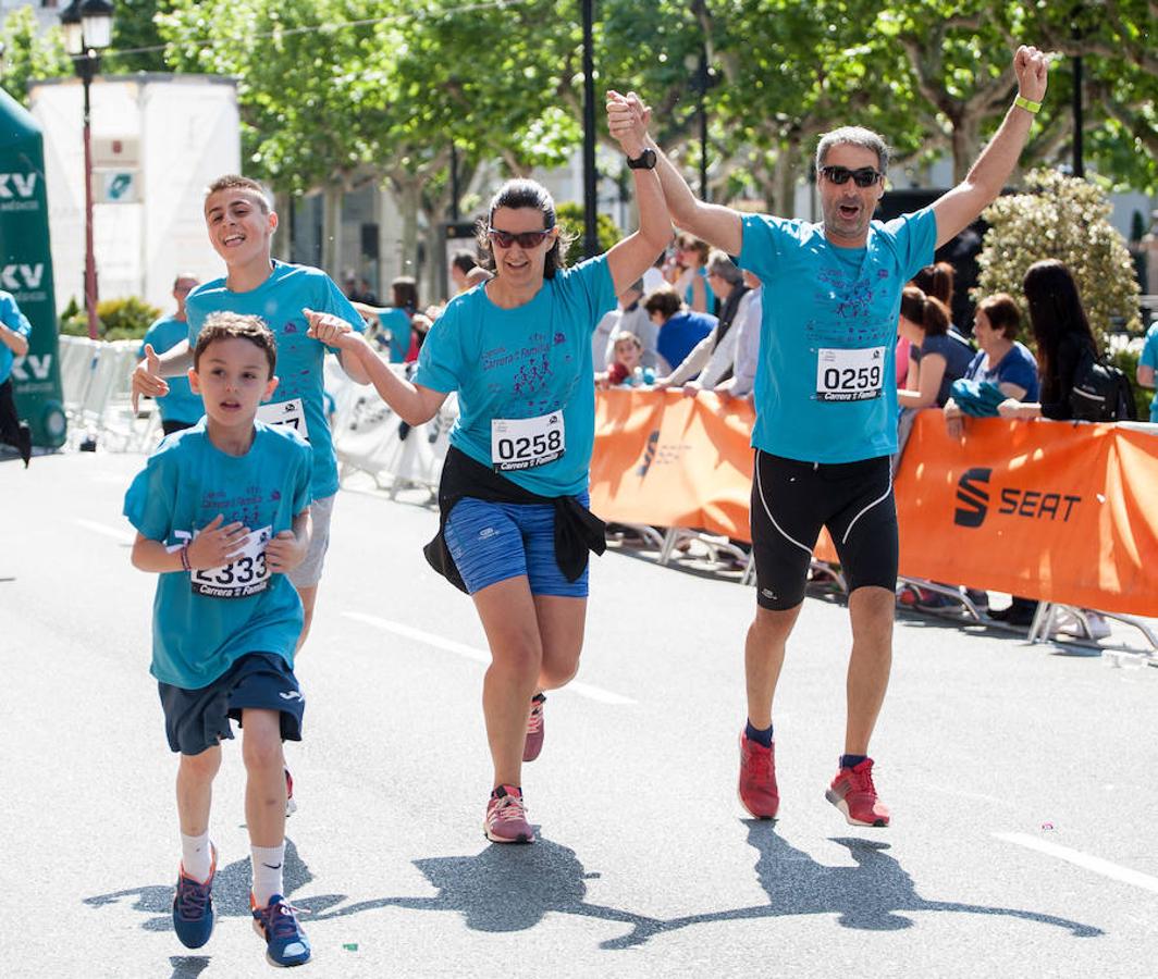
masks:
<instances>
[{"instance_id":1,"label":"navy blue shorts on the young boy with bib 2333","mask_svg":"<svg viewBox=\"0 0 1158 979\"><path fill-rule=\"evenodd\" d=\"M169 748L182 755L200 755L232 738L229 721L240 727L247 707L280 712L281 739L301 741L306 698L290 664L276 653L249 653L199 690L167 683L157 689Z\"/></svg>"}]
</instances>

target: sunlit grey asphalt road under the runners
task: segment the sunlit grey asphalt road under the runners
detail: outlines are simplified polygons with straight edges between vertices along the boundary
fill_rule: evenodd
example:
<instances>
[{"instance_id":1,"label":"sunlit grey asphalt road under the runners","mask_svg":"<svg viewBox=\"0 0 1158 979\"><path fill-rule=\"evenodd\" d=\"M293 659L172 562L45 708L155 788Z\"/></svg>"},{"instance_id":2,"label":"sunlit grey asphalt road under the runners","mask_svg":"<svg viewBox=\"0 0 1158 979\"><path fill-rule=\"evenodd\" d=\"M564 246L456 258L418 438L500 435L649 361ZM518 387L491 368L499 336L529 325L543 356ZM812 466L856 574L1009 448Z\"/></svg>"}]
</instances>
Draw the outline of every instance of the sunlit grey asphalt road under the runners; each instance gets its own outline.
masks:
<instances>
[{"instance_id":1,"label":"sunlit grey asphalt road under the runners","mask_svg":"<svg viewBox=\"0 0 1158 979\"><path fill-rule=\"evenodd\" d=\"M175 760L148 675L154 582L120 516L139 456L0 463L0 974L264 976L240 743L214 797L221 915L169 920ZM777 700L780 818L735 796L754 592L609 553L579 684L489 845L472 606L426 568L434 511L343 491L298 665L287 890L313 976L1155 974L1158 670L902 618L874 742L893 826L823 797L844 608L809 598ZM1122 662L1122 661L1119 661Z\"/></svg>"}]
</instances>

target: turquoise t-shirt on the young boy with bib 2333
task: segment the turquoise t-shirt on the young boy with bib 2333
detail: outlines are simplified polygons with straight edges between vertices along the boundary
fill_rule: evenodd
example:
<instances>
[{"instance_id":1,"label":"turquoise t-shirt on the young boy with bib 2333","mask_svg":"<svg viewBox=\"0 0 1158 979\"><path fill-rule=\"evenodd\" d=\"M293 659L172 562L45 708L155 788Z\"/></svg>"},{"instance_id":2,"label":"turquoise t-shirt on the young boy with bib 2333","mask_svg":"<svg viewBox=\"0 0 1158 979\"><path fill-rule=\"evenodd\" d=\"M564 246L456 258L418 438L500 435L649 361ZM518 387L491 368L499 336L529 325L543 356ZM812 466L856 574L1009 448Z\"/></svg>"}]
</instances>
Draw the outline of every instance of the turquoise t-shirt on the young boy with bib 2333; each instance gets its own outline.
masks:
<instances>
[{"instance_id":1,"label":"turquoise t-shirt on the young boy with bib 2333","mask_svg":"<svg viewBox=\"0 0 1158 979\"><path fill-rule=\"evenodd\" d=\"M162 440L125 494L129 522L170 549L218 514L226 524L244 523L255 539L263 529L269 537L292 530L294 516L309 507L309 446L283 427L255 427L243 456L215 448L204 418ZM162 683L198 690L249 653L276 653L293 668L301 599L290 579L265 572L264 554L157 579L149 672Z\"/></svg>"}]
</instances>

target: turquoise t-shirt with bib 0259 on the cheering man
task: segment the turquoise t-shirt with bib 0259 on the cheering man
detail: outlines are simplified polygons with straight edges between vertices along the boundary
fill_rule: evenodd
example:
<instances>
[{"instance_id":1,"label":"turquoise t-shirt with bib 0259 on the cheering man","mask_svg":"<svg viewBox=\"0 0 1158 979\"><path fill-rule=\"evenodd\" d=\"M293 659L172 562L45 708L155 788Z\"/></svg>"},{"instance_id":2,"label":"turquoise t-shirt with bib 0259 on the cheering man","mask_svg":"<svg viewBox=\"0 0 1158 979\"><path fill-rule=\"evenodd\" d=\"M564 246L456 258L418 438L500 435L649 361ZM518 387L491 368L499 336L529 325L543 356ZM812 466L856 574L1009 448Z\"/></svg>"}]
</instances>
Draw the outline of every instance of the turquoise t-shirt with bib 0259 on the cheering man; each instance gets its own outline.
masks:
<instances>
[{"instance_id":1,"label":"turquoise t-shirt with bib 0259 on the cheering man","mask_svg":"<svg viewBox=\"0 0 1158 979\"><path fill-rule=\"evenodd\" d=\"M896 451L901 289L933 260L931 208L873 221L865 248L835 248L822 224L749 215L738 264L764 284L752 444L845 463Z\"/></svg>"}]
</instances>

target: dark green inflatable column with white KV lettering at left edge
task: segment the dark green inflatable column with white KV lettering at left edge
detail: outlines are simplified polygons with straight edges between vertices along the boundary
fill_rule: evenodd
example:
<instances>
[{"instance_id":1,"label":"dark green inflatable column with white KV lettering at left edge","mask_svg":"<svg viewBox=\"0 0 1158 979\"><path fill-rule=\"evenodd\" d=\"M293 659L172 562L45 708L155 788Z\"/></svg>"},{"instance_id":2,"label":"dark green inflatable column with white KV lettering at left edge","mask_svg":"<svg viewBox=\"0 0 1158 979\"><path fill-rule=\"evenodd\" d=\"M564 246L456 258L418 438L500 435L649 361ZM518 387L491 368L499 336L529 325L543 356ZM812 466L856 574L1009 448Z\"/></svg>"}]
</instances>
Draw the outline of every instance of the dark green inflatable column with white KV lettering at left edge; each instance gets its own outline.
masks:
<instances>
[{"instance_id":1,"label":"dark green inflatable column with white KV lettering at left edge","mask_svg":"<svg viewBox=\"0 0 1158 979\"><path fill-rule=\"evenodd\" d=\"M13 365L16 410L32 443L65 442L57 303L44 185L44 140L28 111L0 88L0 289L32 324L28 354Z\"/></svg>"}]
</instances>

